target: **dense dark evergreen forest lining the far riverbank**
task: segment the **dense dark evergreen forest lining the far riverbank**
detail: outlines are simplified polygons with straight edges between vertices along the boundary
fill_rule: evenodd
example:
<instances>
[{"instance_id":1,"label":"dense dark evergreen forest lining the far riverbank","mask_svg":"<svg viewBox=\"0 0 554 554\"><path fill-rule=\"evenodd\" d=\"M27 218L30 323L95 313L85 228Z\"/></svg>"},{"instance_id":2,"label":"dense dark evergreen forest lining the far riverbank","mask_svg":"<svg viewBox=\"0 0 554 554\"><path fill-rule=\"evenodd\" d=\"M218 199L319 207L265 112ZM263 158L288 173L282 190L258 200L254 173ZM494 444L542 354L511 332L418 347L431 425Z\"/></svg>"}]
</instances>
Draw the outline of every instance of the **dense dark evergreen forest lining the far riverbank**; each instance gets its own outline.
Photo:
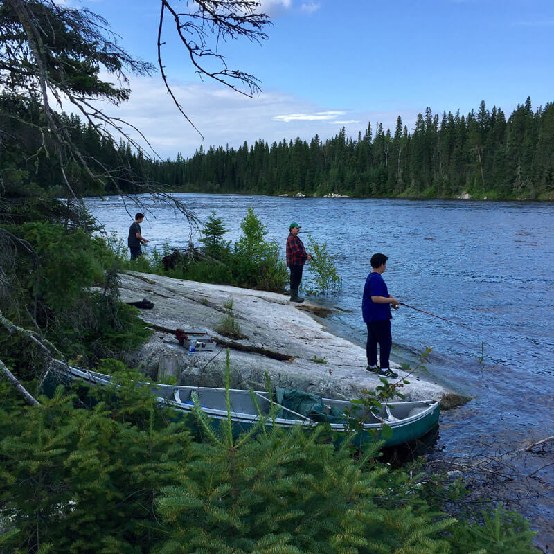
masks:
<instances>
[{"instance_id":1,"label":"dense dark evergreen forest lining the far riverbank","mask_svg":"<svg viewBox=\"0 0 554 554\"><path fill-rule=\"evenodd\" d=\"M32 117L33 110L26 114ZM188 159L178 154L166 161L98 134L77 116L62 118L89 165L111 172L101 190L82 172L74 185L82 195L137 193L148 184L148 190L204 193L554 199L554 104L533 111L530 98L508 118L484 101L467 115L458 110L439 116L427 108L411 132L398 116L394 133L382 123L369 124L355 140L343 128L326 141L316 135L309 143L259 139L236 150L201 146ZM36 150L32 128L26 126L31 136L19 141L19 154L21 144ZM1 166L4 174L17 170L19 180L24 175L24 181L62 193L60 168L51 158L7 156Z\"/></svg>"}]
</instances>

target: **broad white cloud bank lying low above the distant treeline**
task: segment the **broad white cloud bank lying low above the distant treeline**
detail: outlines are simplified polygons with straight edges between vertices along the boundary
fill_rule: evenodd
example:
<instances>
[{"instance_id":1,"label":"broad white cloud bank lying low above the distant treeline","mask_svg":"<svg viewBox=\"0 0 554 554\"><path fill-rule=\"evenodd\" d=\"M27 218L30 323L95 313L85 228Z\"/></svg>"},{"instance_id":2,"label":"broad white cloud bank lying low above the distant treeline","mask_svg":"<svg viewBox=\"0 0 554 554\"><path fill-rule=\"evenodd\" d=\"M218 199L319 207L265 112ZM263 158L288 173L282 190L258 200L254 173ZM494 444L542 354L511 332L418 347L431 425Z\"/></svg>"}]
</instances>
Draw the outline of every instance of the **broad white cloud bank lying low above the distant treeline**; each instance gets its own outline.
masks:
<instances>
[{"instance_id":1,"label":"broad white cloud bank lying low above the distant treeline","mask_svg":"<svg viewBox=\"0 0 554 554\"><path fill-rule=\"evenodd\" d=\"M174 83L173 92L204 135L202 141L172 103L159 78L132 78L131 89L129 102L120 107L107 105L105 111L141 129L162 159L175 159L177 152L189 157L200 145L204 150L212 145L238 148L244 141L251 144L262 139L271 145L283 139L294 141L296 137L309 142L316 134L325 141L342 126L347 136L357 138L358 132L364 133L369 121L373 129L375 123L382 122L385 129L394 130L399 114L409 128L413 127L417 116L417 111L406 113L402 109L381 112L353 111L348 107L333 109L276 90L247 98L216 85ZM67 106L65 108L69 111ZM136 138L141 141L138 136Z\"/></svg>"}]
</instances>

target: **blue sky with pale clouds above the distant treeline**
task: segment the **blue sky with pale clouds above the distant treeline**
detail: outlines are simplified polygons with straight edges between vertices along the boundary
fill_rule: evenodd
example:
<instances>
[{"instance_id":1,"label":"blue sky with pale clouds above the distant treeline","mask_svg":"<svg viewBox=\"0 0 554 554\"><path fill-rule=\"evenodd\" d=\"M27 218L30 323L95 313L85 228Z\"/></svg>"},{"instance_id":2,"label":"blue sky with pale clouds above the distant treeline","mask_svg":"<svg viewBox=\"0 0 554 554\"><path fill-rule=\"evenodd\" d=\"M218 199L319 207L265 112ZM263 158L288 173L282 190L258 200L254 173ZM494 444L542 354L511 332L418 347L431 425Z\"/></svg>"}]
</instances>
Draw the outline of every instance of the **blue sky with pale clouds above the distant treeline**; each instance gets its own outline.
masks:
<instances>
[{"instance_id":1,"label":"blue sky with pale clouds above the distant treeline","mask_svg":"<svg viewBox=\"0 0 554 554\"><path fill-rule=\"evenodd\" d=\"M130 54L157 65L159 0L67 0L102 15ZM186 1L174 0L186 9ZM189 2L191 4L192 2ZM231 69L261 81L248 98L199 79L166 20L163 62L186 114L159 71L132 77L129 102L111 115L139 127L161 159L263 139L324 141L341 127L356 139L371 123L411 131L419 112L477 110L509 116L530 96L554 101L553 0L262 0L269 39L220 42Z\"/></svg>"}]
</instances>

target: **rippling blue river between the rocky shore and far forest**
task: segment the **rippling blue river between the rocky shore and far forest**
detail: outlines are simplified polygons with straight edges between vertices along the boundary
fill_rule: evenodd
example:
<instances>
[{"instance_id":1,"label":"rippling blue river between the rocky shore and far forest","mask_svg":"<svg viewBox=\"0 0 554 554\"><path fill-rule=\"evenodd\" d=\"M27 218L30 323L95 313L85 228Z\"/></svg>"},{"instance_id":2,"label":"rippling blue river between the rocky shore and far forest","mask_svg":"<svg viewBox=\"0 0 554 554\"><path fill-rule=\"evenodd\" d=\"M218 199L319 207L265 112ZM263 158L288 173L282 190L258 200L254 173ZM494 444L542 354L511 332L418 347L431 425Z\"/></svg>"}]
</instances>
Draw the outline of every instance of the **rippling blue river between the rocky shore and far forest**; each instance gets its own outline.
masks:
<instances>
[{"instance_id":1,"label":"rippling blue river between the rocky shore and far forest","mask_svg":"<svg viewBox=\"0 0 554 554\"><path fill-rule=\"evenodd\" d=\"M480 452L508 456L519 475L538 470L537 491L528 490L519 506L539 529L539 542L553 544L554 497L542 485L554 483L554 466L548 465L553 449L515 453L554 435L554 204L175 196L202 222L215 211L230 230L227 240L240 236L251 206L283 254L293 221L302 226L304 240L310 233L326 242L337 256L343 290L317 302L338 307L325 323L361 346L361 293L375 252L389 257L384 279L393 296L465 325L408 307L393 313L393 359L417 364L418 354L432 346L430 378L472 397L441 414L431 457ZM161 251L164 242L186 246L190 231L183 217L146 197L143 202L150 211L142 225L149 249ZM107 231L126 240L132 219L119 197L87 199L87 206Z\"/></svg>"}]
</instances>

